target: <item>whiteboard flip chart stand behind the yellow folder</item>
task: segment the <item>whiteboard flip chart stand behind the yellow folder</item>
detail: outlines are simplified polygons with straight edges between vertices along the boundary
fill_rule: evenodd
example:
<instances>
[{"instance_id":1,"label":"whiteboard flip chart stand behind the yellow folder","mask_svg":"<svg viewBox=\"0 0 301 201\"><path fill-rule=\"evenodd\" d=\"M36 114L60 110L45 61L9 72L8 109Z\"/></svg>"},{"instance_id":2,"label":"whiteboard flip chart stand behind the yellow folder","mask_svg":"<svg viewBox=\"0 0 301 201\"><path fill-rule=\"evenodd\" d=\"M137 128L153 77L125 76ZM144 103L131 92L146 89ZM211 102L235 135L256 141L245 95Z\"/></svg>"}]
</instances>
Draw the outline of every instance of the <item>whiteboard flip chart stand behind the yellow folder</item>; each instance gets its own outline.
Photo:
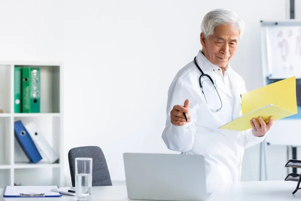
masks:
<instances>
[{"instance_id":1,"label":"whiteboard flip chart stand behind the yellow folder","mask_svg":"<svg viewBox=\"0 0 301 201\"><path fill-rule=\"evenodd\" d=\"M275 121L269 145L301 146L301 21L261 21L263 85L296 76L298 114Z\"/></svg>"}]
</instances>

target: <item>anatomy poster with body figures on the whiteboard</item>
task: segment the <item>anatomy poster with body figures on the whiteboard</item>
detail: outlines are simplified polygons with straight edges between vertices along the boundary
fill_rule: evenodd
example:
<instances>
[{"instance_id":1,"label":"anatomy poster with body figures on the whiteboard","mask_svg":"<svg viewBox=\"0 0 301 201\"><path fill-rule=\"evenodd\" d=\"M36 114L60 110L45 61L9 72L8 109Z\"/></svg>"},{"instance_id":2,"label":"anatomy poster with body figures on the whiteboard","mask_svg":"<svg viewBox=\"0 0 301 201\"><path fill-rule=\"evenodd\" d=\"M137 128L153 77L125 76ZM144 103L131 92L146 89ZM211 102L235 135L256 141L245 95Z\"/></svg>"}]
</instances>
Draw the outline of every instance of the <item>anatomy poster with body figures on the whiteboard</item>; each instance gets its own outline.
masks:
<instances>
[{"instance_id":1,"label":"anatomy poster with body figures on the whiteboard","mask_svg":"<svg viewBox=\"0 0 301 201\"><path fill-rule=\"evenodd\" d=\"M301 26L271 26L266 31L269 77L301 78Z\"/></svg>"}]
</instances>

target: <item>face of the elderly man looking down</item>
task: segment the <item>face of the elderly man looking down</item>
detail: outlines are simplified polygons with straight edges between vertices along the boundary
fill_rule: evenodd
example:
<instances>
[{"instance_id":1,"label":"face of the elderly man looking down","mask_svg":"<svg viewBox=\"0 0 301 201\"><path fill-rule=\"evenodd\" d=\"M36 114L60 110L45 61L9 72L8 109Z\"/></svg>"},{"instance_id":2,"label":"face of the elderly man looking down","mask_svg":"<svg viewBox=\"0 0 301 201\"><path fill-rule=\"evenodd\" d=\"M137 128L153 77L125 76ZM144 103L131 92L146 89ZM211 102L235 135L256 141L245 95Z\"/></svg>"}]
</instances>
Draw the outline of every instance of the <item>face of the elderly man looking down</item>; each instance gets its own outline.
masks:
<instances>
[{"instance_id":1,"label":"face of the elderly man looking down","mask_svg":"<svg viewBox=\"0 0 301 201\"><path fill-rule=\"evenodd\" d=\"M226 67L234 55L239 41L239 30L231 25L220 25L208 40L201 33L203 54L213 64Z\"/></svg>"}]
</instances>

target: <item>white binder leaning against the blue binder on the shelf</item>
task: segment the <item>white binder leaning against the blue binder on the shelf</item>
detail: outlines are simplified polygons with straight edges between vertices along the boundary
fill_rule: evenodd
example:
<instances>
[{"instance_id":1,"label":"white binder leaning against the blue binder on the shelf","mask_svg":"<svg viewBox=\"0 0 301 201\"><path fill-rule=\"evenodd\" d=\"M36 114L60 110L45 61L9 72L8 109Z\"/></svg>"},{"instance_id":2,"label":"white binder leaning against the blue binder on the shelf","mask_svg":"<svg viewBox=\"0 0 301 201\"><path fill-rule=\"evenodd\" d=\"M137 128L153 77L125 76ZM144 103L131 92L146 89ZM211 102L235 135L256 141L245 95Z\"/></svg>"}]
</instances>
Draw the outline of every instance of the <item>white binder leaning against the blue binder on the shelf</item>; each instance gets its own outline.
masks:
<instances>
[{"instance_id":1,"label":"white binder leaning against the blue binder on the shelf","mask_svg":"<svg viewBox=\"0 0 301 201\"><path fill-rule=\"evenodd\" d=\"M34 122L25 124L25 128L36 144L37 149L48 159L50 163L54 163L59 159L59 155L50 146Z\"/></svg>"}]
</instances>

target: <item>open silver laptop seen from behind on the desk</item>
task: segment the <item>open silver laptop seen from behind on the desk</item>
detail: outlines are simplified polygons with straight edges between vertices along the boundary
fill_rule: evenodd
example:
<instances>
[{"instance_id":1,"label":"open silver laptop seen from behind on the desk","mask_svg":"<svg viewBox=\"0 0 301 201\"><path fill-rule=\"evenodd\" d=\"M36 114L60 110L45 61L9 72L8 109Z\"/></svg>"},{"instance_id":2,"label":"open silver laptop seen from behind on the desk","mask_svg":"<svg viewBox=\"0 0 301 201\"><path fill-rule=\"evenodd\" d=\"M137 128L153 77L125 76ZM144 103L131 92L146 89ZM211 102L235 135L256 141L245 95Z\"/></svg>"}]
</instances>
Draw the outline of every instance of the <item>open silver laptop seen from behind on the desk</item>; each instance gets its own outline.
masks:
<instances>
[{"instance_id":1,"label":"open silver laptop seen from behind on the desk","mask_svg":"<svg viewBox=\"0 0 301 201\"><path fill-rule=\"evenodd\" d=\"M124 153L127 196L139 200L208 200L202 155Z\"/></svg>"}]
</instances>

